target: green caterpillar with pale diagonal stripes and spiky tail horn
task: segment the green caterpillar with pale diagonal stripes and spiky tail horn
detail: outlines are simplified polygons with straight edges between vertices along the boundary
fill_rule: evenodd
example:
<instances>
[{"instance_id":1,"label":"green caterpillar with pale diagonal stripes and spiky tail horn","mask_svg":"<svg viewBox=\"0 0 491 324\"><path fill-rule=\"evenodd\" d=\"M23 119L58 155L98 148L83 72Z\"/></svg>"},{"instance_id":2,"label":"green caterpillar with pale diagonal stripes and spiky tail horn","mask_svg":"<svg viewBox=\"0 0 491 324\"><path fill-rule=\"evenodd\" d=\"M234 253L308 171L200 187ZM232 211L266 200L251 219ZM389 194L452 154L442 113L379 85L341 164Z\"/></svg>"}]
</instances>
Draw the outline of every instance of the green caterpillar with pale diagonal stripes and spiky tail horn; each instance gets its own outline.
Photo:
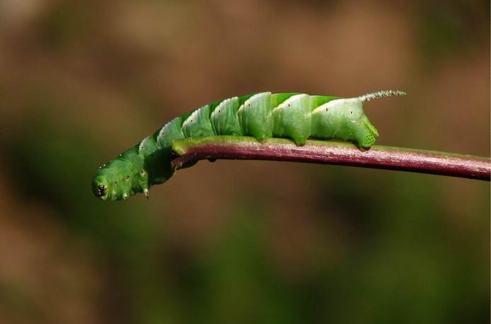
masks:
<instances>
[{"instance_id":1,"label":"green caterpillar with pale diagonal stripes and spiky tail horn","mask_svg":"<svg viewBox=\"0 0 491 324\"><path fill-rule=\"evenodd\" d=\"M258 92L206 104L172 119L153 135L101 166L92 180L101 200L126 200L164 183L175 172L172 141L189 137L253 136L259 141L286 137L302 146L307 139L353 141L368 149L379 136L363 112L363 103L380 97L406 95L399 90L372 92L353 98L299 92Z\"/></svg>"}]
</instances>

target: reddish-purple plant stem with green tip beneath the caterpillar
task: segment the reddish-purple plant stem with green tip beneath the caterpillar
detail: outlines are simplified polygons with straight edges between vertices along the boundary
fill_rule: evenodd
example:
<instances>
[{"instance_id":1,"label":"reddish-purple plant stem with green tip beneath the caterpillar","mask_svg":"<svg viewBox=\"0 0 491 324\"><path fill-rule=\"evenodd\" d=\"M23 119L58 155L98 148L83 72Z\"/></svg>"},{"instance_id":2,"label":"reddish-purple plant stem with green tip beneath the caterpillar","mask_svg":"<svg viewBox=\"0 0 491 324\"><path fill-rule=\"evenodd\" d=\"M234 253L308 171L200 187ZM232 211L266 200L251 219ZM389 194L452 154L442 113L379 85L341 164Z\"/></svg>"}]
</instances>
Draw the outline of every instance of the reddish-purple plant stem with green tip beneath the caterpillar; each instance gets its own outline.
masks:
<instances>
[{"instance_id":1,"label":"reddish-purple plant stem with green tip beneath the caterpillar","mask_svg":"<svg viewBox=\"0 0 491 324\"><path fill-rule=\"evenodd\" d=\"M379 145L360 151L343 141L307 141L306 145L297 146L289 139L260 143L245 136L209 136L174 141L172 150L177 154L172 160L176 169L204 159L238 159L338 164L487 181L491 171L487 157Z\"/></svg>"}]
</instances>

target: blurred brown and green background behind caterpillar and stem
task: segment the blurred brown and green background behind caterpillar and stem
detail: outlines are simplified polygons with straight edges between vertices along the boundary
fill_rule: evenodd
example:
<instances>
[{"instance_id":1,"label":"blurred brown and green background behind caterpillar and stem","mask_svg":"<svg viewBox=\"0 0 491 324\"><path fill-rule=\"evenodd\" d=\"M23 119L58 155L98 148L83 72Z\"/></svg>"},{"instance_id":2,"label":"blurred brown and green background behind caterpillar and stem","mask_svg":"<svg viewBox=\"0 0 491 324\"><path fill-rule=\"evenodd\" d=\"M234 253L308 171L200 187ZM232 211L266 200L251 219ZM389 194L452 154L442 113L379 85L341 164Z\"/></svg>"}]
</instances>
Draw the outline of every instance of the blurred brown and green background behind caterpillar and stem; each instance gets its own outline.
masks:
<instances>
[{"instance_id":1,"label":"blurred brown and green background behind caterpillar and stem","mask_svg":"<svg viewBox=\"0 0 491 324\"><path fill-rule=\"evenodd\" d=\"M0 1L0 323L489 323L490 185L200 162L96 168L249 92L370 102L378 144L490 156L490 2Z\"/></svg>"}]
</instances>

